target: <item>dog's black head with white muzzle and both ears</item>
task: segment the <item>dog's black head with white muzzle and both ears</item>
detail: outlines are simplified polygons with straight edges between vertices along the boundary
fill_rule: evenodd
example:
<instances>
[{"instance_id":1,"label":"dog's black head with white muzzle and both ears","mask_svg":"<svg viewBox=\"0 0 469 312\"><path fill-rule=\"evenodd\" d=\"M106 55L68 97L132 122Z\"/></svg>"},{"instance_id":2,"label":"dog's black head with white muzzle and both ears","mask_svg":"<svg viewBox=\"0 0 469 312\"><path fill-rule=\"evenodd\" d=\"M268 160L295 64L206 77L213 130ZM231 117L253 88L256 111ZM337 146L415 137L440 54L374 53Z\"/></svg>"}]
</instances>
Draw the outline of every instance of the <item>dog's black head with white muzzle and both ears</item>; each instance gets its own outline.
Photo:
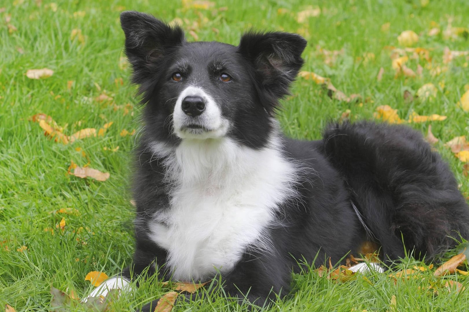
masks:
<instances>
[{"instance_id":1,"label":"dog's black head with white muzzle and both ears","mask_svg":"<svg viewBox=\"0 0 469 312\"><path fill-rule=\"evenodd\" d=\"M147 135L169 144L230 137L265 146L273 111L303 65L303 37L248 32L237 47L189 43L180 27L132 11L121 25Z\"/></svg>"}]
</instances>

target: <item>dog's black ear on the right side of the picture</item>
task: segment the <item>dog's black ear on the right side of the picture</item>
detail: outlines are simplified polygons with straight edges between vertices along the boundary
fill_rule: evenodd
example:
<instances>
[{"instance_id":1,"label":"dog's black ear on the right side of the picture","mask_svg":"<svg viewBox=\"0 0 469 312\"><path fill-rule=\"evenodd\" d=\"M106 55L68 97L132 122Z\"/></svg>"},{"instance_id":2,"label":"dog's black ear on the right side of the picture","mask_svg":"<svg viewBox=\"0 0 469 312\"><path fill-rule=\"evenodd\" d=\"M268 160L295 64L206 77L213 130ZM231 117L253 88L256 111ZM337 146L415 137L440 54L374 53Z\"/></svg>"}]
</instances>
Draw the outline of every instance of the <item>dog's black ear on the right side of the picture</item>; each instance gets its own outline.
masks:
<instances>
[{"instance_id":1,"label":"dog's black ear on the right side of the picture","mask_svg":"<svg viewBox=\"0 0 469 312\"><path fill-rule=\"evenodd\" d=\"M301 53L306 40L284 32L248 32L241 37L238 51L254 65L257 81L273 97L268 106L288 94L288 88L303 65Z\"/></svg>"}]
</instances>

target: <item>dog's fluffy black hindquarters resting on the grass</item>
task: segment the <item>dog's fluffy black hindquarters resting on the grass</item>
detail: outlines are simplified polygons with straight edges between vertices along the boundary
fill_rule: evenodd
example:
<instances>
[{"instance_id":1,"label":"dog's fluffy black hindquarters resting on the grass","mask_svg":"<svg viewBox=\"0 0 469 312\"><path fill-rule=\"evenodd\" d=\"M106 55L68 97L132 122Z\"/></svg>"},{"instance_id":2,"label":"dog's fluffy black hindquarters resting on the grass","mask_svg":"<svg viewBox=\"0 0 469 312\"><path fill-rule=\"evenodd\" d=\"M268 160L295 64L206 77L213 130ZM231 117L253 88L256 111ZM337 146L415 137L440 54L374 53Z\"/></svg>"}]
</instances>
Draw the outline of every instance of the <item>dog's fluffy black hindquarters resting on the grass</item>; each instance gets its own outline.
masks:
<instances>
[{"instance_id":1,"label":"dog's fluffy black hindquarters resting on the grass","mask_svg":"<svg viewBox=\"0 0 469 312\"><path fill-rule=\"evenodd\" d=\"M384 260L433 259L469 239L469 207L440 155L407 126L331 124L323 153L344 177Z\"/></svg>"}]
</instances>

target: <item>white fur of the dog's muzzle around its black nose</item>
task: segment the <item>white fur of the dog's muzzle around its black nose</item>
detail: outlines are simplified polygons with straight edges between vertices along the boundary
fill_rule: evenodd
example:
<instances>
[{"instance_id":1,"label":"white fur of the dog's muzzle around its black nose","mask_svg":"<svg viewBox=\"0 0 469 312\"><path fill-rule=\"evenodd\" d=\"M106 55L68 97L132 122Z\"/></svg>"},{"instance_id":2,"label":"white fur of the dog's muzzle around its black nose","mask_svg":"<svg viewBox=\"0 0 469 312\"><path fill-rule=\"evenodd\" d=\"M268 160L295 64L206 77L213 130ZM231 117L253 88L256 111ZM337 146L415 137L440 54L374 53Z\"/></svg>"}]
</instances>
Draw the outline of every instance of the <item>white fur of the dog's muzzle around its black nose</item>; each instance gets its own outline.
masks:
<instances>
[{"instance_id":1,"label":"white fur of the dog's muzzle around its black nose","mask_svg":"<svg viewBox=\"0 0 469 312\"><path fill-rule=\"evenodd\" d=\"M186 96L200 96L204 99L205 110L200 116L187 116L182 111L182 100ZM197 121L210 131L191 133L181 129L184 125L194 123L194 121ZM179 138L221 138L227 133L229 128L229 122L226 118L221 116L221 110L212 96L205 92L204 89L194 86L185 88L181 94L179 94L176 105L174 106L173 124L174 133Z\"/></svg>"}]
</instances>

